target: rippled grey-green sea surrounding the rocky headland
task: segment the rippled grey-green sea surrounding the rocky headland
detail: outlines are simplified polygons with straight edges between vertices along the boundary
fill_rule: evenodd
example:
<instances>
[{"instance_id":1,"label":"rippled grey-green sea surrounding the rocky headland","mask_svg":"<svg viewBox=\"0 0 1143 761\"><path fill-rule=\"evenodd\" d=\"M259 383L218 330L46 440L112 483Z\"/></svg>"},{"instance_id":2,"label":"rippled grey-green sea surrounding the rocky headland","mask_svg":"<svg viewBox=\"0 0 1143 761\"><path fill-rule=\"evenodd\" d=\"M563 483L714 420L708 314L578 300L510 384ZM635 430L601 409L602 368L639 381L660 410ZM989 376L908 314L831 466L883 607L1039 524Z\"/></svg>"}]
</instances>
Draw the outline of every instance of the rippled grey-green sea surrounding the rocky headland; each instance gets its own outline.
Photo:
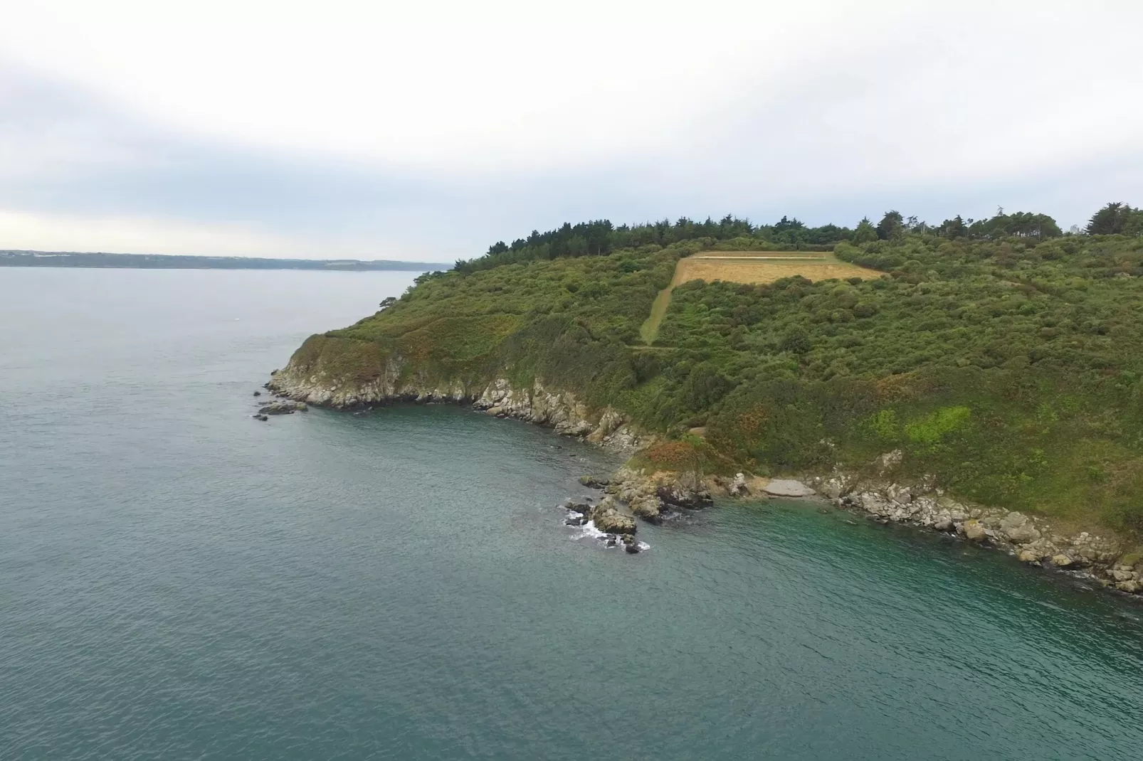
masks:
<instances>
[{"instance_id":1,"label":"rippled grey-green sea surrounding the rocky headland","mask_svg":"<svg viewBox=\"0 0 1143 761\"><path fill-rule=\"evenodd\" d=\"M550 431L250 418L410 282L0 270L0 759L1143 758L1126 601L806 503L626 555Z\"/></svg>"}]
</instances>

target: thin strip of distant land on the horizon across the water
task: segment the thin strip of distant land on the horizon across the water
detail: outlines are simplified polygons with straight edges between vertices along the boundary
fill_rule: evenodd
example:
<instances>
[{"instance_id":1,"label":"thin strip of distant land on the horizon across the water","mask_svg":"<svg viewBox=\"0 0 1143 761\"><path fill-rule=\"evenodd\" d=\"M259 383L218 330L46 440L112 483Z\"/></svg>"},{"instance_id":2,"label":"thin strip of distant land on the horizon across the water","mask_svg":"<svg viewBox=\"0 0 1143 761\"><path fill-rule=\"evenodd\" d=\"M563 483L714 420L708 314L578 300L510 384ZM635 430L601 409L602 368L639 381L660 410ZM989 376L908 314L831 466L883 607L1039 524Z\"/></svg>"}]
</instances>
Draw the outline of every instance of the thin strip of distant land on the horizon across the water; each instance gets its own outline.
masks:
<instances>
[{"instance_id":1,"label":"thin strip of distant land on the horizon across the water","mask_svg":"<svg viewBox=\"0 0 1143 761\"><path fill-rule=\"evenodd\" d=\"M318 270L365 272L397 270L430 272L448 270L443 262L395 262L392 259L267 259L246 256L179 256L163 254L81 254L75 251L0 250L5 267L99 267L134 270Z\"/></svg>"}]
</instances>

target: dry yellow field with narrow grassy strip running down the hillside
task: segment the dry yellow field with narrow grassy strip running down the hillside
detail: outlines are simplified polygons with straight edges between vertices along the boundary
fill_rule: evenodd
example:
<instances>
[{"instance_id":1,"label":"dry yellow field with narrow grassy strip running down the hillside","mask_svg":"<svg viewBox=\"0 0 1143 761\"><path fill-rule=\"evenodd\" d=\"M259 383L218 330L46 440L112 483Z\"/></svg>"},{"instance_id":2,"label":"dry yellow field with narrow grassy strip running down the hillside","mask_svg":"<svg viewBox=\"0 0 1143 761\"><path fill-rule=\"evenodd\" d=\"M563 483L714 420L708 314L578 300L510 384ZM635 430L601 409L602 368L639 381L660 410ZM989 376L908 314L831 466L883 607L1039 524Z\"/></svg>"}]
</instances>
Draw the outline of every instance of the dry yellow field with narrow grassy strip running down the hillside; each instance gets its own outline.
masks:
<instances>
[{"instance_id":1,"label":"dry yellow field with narrow grassy strip running down the hillside","mask_svg":"<svg viewBox=\"0 0 1143 761\"><path fill-rule=\"evenodd\" d=\"M648 346L658 336L658 326L671 304L671 291L692 280L713 282L743 282L751 285L774 282L782 278L801 275L807 280L830 280L832 278L880 278L881 272L866 270L833 257L832 254L815 251L703 251L679 259L674 266L671 285L658 293L652 304L650 315L639 329L639 335Z\"/></svg>"}]
</instances>

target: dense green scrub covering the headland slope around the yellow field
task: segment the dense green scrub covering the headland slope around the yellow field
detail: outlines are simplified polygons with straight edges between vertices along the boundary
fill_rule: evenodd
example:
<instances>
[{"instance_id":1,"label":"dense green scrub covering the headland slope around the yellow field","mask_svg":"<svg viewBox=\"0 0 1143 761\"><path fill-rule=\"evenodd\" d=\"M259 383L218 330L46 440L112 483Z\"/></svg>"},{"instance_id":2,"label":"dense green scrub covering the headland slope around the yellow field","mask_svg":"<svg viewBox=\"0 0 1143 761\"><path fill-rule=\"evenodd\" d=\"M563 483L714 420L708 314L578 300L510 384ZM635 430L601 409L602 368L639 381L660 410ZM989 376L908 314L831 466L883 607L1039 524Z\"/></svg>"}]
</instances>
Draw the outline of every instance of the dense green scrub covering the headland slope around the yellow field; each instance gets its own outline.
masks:
<instances>
[{"instance_id":1,"label":"dense green scrub covering the headland slope around the yellow field","mask_svg":"<svg viewBox=\"0 0 1143 761\"><path fill-rule=\"evenodd\" d=\"M772 246L775 226L727 217L673 241L685 221L568 226L425 275L296 359L366 379L379 345L430 378L539 378L666 434L646 454L662 464L862 468L900 449L961 496L1143 530L1141 219L1109 205L1062 234L1042 215L889 213L833 229L834 254L880 279L686 283L653 347L638 328L680 256ZM725 232L698 234L711 225ZM652 232L665 242L638 237ZM576 235L585 249L555 248Z\"/></svg>"}]
</instances>

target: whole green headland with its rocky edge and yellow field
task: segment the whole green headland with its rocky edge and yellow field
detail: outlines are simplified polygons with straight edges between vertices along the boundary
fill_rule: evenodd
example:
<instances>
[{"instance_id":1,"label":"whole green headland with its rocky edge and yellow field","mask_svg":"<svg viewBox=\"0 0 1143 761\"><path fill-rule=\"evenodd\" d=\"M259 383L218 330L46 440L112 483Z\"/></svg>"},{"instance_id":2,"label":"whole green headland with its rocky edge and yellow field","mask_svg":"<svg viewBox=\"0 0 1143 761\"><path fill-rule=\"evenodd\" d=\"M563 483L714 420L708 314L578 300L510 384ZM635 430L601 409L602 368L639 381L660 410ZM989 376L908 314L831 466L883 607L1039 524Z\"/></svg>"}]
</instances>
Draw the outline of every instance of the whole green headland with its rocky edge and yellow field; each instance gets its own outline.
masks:
<instances>
[{"instance_id":1,"label":"whole green headland with its rocky edge and yellow field","mask_svg":"<svg viewBox=\"0 0 1143 761\"><path fill-rule=\"evenodd\" d=\"M270 387L470 403L629 451L609 488L649 521L794 476L1132 592L1143 237L1029 237L1021 219L823 229L813 255L732 218L567 226L417 278L311 336ZM689 279L688 257L714 279Z\"/></svg>"}]
</instances>

